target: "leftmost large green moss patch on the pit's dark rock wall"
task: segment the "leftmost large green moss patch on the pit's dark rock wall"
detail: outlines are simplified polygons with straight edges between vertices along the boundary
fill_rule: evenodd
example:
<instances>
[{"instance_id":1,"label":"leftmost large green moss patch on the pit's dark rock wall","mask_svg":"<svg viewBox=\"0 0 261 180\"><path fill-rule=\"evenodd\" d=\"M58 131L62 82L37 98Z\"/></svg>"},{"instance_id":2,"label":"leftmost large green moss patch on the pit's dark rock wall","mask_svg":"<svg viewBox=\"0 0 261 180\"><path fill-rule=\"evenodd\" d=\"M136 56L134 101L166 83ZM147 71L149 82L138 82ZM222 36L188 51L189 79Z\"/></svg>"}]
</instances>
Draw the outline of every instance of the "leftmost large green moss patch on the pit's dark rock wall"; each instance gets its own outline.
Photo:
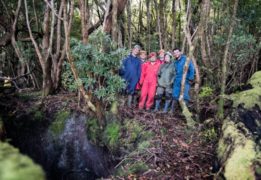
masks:
<instances>
[{"instance_id":1,"label":"leftmost large green moss patch on the pit's dark rock wall","mask_svg":"<svg viewBox=\"0 0 261 180\"><path fill-rule=\"evenodd\" d=\"M55 121L52 123L50 131L55 135L60 135L66 124L66 119L70 116L70 108L59 110L55 115Z\"/></svg>"}]
</instances>

